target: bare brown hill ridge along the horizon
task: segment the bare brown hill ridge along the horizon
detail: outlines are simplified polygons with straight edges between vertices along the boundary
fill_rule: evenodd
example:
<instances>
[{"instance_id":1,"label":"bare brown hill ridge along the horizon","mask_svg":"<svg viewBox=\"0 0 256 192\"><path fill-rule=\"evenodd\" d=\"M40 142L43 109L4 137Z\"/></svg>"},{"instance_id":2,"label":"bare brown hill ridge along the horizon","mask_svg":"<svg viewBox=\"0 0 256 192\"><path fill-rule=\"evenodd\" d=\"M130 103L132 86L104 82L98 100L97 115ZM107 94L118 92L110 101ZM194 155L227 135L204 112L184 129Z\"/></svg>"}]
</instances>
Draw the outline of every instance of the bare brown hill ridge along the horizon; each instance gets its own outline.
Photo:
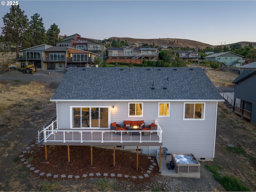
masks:
<instances>
[{"instance_id":1,"label":"bare brown hill ridge along the horizon","mask_svg":"<svg viewBox=\"0 0 256 192\"><path fill-rule=\"evenodd\" d=\"M60 36L61 38L62 36ZM86 38L86 37L84 37ZM158 46L161 46L161 45L166 45L166 46L170 46L170 47L189 47L189 48L197 48L197 46L200 48L200 49L204 49L206 47L210 47L210 48L214 48L216 47L215 45L210 45L210 44L206 44L206 43L203 43L203 42L198 42L198 41L194 41L194 40L188 40L188 39L176 39L176 38L159 38L159 39L136 39L136 38L129 38L129 37L110 37L108 39L115 39L115 40L118 40L120 39L120 41L127 41L128 43L148 43L148 44L155 44L155 45L158 45ZM88 40L93 40L93 41L102 41L102 40L96 40L96 39L91 39L91 38L88 38ZM243 41L243 42L237 42L237 43L240 43L242 45L242 47L244 46L248 46L249 43L252 44L252 46L254 46L256 48L256 42L246 42L246 41ZM232 43L232 44L236 44L236 43ZM230 46L232 44L226 44L226 45L220 45L220 46Z\"/></svg>"}]
</instances>

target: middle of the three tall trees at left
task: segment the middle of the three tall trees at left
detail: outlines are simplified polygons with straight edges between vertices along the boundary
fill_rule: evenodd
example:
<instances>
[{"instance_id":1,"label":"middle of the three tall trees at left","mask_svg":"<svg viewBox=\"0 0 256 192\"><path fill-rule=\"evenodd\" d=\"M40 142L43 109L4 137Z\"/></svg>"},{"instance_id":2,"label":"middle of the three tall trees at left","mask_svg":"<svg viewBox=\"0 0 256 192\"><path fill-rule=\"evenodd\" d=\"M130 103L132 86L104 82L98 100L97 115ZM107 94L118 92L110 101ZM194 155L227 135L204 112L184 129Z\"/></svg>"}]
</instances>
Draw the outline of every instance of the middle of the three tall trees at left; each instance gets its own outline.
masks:
<instances>
[{"instance_id":1,"label":"middle of the three tall trees at left","mask_svg":"<svg viewBox=\"0 0 256 192\"><path fill-rule=\"evenodd\" d=\"M44 28L43 18L39 14L31 16L29 30L33 39L32 46L38 46L46 43L46 30Z\"/></svg>"}]
</instances>

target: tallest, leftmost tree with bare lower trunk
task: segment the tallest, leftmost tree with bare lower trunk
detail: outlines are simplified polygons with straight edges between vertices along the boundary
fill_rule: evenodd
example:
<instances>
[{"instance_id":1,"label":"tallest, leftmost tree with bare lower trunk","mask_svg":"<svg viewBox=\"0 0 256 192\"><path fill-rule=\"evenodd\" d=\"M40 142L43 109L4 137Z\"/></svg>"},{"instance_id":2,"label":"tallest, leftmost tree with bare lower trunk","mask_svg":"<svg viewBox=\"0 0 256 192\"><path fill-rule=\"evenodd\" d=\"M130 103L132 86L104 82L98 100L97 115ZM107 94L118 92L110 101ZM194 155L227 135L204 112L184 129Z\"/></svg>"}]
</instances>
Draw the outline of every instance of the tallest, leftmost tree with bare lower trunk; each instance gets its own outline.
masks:
<instances>
[{"instance_id":1,"label":"tallest, leftmost tree with bare lower trunk","mask_svg":"<svg viewBox=\"0 0 256 192\"><path fill-rule=\"evenodd\" d=\"M24 35L28 29L28 18L20 6L12 6L10 12L2 18L4 27L2 27L3 41L16 46L16 58L19 58L19 46L24 40Z\"/></svg>"}]
</instances>

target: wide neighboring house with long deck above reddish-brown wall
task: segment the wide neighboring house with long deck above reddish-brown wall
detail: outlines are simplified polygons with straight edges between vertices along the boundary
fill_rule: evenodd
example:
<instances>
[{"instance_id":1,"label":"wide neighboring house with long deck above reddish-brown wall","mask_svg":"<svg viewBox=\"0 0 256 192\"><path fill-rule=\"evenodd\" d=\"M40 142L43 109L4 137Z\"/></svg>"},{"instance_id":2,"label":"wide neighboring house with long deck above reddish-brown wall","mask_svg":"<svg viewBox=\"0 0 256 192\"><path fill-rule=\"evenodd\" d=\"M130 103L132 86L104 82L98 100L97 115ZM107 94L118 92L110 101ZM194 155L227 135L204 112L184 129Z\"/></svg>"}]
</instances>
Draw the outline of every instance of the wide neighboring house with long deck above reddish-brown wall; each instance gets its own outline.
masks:
<instances>
[{"instance_id":1,"label":"wide neighboring house with long deck above reddish-brown wall","mask_svg":"<svg viewBox=\"0 0 256 192\"><path fill-rule=\"evenodd\" d=\"M158 49L156 48L109 48L107 64L110 62L126 62L142 64L143 60L157 61Z\"/></svg>"}]
</instances>

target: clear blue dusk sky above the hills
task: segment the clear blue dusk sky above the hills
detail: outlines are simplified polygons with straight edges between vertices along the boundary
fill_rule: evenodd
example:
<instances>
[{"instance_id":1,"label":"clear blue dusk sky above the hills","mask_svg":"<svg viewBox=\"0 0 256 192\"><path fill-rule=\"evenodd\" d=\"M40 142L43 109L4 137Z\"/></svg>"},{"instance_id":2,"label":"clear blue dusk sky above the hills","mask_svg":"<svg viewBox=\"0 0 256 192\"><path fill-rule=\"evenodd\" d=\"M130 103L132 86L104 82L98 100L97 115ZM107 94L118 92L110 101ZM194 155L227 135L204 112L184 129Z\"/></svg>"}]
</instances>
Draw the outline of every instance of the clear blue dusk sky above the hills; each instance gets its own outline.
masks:
<instances>
[{"instance_id":1,"label":"clear blue dusk sky above the hills","mask_svg":"<svg viewBox=\"0 0 256 192\"><path fill-rule=\"evenodd\" d=\"M10 6L0 1L3 27ZM46 30L55 23L60 35L77 33L99 40L179 38L210 45L256 42L254 0L18 0L18 4L29 20L40 14Z\"/></svg>"}]
</instances>

